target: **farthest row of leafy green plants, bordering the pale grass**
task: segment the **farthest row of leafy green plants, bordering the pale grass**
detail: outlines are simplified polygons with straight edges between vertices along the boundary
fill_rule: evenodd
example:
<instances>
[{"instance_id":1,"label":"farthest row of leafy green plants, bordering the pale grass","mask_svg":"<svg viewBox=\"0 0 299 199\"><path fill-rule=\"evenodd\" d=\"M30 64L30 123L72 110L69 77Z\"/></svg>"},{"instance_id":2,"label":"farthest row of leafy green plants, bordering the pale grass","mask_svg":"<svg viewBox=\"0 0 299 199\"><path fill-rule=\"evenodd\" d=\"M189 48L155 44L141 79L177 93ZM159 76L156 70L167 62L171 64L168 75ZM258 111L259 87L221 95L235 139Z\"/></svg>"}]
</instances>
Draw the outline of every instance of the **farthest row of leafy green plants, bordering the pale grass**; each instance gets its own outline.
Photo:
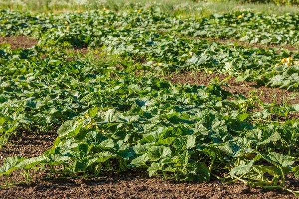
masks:
<instances>
[{"instance_id":1,"label":"farthest row of leafy green plants, bordering the pale grass","mask_svg":"<svg viewBox=\"0 0 299 199\"><path fill-rule=\"evenodd\" d=\"M79 12L79 11L78 11ZM99 37L126 31L154 31L171 36L208 38L237 38L261 44L297 45L297 14L284 15L249 11L212 14L204 18L170 16L154 8L113 12L107 10L42 14L19 11L0 11L1 35L29 35L36 38L57 38L69 27L77 45L97 45ZM53 35L53 31L59 32Z\"/></svg>"}]
</instances>

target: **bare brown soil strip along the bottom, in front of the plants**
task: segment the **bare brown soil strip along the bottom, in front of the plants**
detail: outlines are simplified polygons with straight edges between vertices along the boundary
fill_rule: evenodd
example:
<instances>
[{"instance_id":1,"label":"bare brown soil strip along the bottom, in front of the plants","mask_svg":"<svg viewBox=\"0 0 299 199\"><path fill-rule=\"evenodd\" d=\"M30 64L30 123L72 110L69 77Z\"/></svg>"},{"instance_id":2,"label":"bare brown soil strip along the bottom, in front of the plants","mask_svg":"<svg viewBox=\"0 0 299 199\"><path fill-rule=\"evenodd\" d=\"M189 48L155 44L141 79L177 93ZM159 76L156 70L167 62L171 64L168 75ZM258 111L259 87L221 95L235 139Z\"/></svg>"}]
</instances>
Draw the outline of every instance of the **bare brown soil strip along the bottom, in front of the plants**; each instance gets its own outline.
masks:
<instances>
[{"instance_id":1,"label":"bare brown soil strip along the bottom, in front of the plants","mask_svg":"<svg viewBox=\"0 0 299 199\"><path fill-rule=\"evenodd\" d=\"M36 185L0 190L3 199L295 199L278 190L248 189L245 185L176 183L148 178L146 174L108 174L103 179L54 179Z\"/></svg>"}]
</instances>

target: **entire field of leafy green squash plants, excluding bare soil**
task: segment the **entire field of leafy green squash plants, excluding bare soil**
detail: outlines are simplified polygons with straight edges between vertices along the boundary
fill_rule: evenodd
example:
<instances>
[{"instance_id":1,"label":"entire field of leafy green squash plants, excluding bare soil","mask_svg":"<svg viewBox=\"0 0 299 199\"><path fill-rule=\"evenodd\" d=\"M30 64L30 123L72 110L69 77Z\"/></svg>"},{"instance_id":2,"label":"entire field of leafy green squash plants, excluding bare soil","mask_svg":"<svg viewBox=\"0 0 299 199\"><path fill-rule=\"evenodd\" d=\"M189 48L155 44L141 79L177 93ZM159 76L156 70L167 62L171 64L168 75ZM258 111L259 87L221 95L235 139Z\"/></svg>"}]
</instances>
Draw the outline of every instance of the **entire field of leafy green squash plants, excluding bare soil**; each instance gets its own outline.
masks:
<instances>
[{"instance_id":1,"label":"entire field of leafy green squash plants, excluding bare soil","mask_svg":"<svg viewBox=\"0 0 299 199\"><path fill-rule=\"evenodd\" d=\"M264 103L254 91L248 98L232 95L217 78L208 86L160 78L202 70L296 90L297 52L194 37L216 23L222 28L209 36L220 37L235 26L229 38L237 37L234 24L239 23L245 31L254 30L254 37L262 32L255 31L256 23L285 34L277 26L284 23L296 34L297 17L236 12L198 20L152 9L61 14L2 10L2 35L28 35L39 43L31 49L0 47L0 147L19 132L60 127L53 147L43 155L4 158L0 187L32 182L33 170L51 179L146 169L150 177L205 182L213 176L299 196L286 179L287 174L299 177L298 104ZM295 41L291 35L278 43ZM74 56L69 49L87 46L122 61ZM13 180L16 172L23 181Z\"/></svg>"}]
</instances>

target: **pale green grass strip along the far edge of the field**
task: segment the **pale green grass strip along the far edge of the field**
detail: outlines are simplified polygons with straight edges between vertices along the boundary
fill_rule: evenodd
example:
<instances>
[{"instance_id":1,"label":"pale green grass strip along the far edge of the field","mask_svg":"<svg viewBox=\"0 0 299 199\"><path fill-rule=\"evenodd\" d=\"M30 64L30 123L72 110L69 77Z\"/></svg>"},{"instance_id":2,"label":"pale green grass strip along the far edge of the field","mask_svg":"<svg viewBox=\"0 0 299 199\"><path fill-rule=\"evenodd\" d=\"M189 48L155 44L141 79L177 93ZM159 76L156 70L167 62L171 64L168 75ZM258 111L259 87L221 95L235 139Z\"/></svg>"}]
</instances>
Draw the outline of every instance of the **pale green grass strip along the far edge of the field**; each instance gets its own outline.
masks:
<instances>
[{"instance_id":1,"label":"pale green grass strip along the far edge of the field","mask_svg":"<svg viewBox=\"0 0 299 199\"><path fill-rule=\"evenodd\" d=\"M140 7L155 7L169 14L184 17L204 17L213 13L233 11L254 11L263 13L284 14L297 13L298 6L278 6L274 3L244 3L239 0L231 1L199 1L191 0L0 0L3 9L61 12L67 10L103 9L104 7L119 11L139 9Z\"/></svg>"}]
</instances>

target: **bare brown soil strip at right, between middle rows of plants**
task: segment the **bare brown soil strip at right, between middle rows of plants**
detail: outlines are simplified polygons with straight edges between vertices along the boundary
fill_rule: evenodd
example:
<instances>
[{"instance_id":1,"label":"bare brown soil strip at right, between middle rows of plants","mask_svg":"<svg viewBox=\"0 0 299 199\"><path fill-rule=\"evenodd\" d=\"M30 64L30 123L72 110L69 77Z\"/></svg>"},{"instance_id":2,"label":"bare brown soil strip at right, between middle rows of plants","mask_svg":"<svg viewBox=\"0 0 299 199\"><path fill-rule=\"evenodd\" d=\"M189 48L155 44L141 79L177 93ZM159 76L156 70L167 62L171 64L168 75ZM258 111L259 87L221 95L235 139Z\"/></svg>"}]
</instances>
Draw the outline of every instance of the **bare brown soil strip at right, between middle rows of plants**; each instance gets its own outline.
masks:
<instances>
[{"instance_id":1,"label":"bare brown soil strip at right, between middle rows of plants","mask_svg":"<svg viewBox=\"0 0 299 199\"><path fill-rule=\"evenodd\" d=\"M219 80L224 80L227 76L216 73L207 74L202 72L184 72L178 75L169 76L167 79L169 79L172 83L189 83L207 86L209 85L210 80L216 77L218 77ZM273 103L274 99L278 104L283 103L286 99L289 99L289 103L291 104L299 103L299 94L296 94L295 92L289 92L279 88L260 87L254 82L236 83L234 77L231 77L230 80L227 81L227 84L230 87L223 87L223 89L231 92L233 95L242 94L245 97L248 97L250 95L250 91L257 90L258 94L261 92L264 93L264 95L260 97L264 103Z\"/></svg>"}]
</instances>

